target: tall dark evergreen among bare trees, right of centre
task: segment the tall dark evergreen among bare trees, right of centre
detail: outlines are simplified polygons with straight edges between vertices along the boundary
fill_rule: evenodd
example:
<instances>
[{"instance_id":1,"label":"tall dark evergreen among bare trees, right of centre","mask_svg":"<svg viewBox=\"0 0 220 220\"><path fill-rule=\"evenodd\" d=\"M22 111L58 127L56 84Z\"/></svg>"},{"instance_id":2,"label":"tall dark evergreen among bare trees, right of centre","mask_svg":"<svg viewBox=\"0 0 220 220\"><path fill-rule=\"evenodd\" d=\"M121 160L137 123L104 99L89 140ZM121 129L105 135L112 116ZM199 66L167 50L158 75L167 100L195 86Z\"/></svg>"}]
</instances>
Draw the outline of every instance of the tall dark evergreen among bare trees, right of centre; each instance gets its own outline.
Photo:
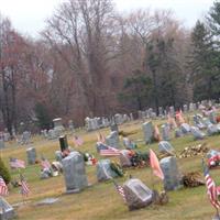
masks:
<instances>
[{"instance_id":1,"label":"tall dark evergreen among bare trees, right of centre","mask_svg":"<svg viewBox=\"0 0 220 220\"><path fill-rule=\"evenodd\" d=\"M151 73L153 89L152 98L156 109L160 106L182 105L179 96L183 85L183 73L176 59L174 40L152 38L146 47L146 66Z\"/></svg>"}]
</instances>

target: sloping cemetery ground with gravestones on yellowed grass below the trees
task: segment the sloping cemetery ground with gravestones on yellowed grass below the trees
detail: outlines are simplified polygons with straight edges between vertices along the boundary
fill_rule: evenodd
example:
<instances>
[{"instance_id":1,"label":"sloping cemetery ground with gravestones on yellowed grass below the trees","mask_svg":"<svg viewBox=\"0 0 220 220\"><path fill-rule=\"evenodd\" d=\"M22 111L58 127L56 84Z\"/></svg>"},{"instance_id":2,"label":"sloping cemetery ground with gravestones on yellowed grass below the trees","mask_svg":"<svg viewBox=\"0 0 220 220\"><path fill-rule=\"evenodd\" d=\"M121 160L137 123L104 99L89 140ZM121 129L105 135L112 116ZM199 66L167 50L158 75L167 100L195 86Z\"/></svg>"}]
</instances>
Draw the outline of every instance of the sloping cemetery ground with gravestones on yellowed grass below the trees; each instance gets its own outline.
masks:
<instances>
[{"instance_id":1,"label":"sloping cemetery ground with gravestones on yellowed grass below the trees","mask_svg":"<svg viewBox=\"0 0 220 220\"><path fill-rule=\"evenodd\" d=\"M218 132L210 134L209 128L196 127L198 113L201 113L199 109L180 113L184 123L179 123L178 112L173 112L174 118L160 114L119 120L119 132L112 131L111 127L88 131L86 123L85 128L75 129L75 135L68 132L72 128L64 128L58 119L57 127L62 131L56 139L45 139L42 133L31 136L25 144L2 140L1 158L11 174L9 194L1 197L6 219L180 220L215 217L206 194L202 160L218 186L220 135ZM219 113L217 106L216 114ZM207 120L205 114L199 119ZM219 125L215 120L209 123ZM160 140L154 138L156 127L160 128ZM176 129L180 129L183 135L176 136ZM97 140L97 132L105 140ZM84 143L77 145L76 135ZM131 143L135 143L135 147ZM120 154L102 154L111 148ZM163 180L152 173L150 148L158 157ZM143 155L146 157L141 157ZM25 168L10 168L10 157L24 161ZM88 163L89 158L94 163ZM135 166L134 158L139 158L142 166ZM41 161L51 163L50 167L43 165L44 169L41 169ZM20 173L29 184L28 196L21 196L14 184ZM123 187L123 198L116 186Z\"/></svg>"}]
</instances>

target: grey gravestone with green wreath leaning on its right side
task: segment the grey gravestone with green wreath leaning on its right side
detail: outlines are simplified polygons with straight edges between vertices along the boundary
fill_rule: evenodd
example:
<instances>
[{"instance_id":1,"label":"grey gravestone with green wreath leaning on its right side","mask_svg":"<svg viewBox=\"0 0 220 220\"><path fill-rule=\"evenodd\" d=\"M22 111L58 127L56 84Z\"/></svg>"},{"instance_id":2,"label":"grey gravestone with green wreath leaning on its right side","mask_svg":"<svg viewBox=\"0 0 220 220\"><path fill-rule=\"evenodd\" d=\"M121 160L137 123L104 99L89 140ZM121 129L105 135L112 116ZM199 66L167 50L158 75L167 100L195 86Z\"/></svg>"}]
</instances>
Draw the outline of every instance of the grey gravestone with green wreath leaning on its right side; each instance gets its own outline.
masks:
<instances>
[{"instance_id":1,"label":"grey gravestone with green wreath leaning on its right side","mask_svg":"<svg viewBox=\"0 0 220 220\"><path fill-rule=\"evenodd\" d=\"M98 182L105 182L117 177L117 173L110 167L110 160L101 160L97 163L97 179Z\"/></svg>"}]
</instances>

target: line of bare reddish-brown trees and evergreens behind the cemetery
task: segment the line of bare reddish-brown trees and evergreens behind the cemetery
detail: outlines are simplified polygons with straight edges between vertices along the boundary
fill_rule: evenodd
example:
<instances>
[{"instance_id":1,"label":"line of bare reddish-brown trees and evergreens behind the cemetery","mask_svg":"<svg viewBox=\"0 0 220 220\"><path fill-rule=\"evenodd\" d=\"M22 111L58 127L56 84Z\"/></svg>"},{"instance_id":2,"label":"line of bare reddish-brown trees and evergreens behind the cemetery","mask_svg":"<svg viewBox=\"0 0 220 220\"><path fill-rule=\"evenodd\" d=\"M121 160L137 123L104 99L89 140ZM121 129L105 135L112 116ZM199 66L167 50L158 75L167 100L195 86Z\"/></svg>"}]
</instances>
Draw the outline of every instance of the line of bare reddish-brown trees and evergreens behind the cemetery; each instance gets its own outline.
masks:
<instances>
[{"instance_id":1,"label":"line of bare reddish-brown trees and evergreens behind the cemetery","mask_svg":"<svg viewBox=\"0 0 220 220\"><path fill-rule=\"evenodd\" d=\"M218 99L220 2L187 30L169 11L116 11L112 0L68 0L41 38L0 16L1 128L180 107Z\"/></svg>"}]
</instances>

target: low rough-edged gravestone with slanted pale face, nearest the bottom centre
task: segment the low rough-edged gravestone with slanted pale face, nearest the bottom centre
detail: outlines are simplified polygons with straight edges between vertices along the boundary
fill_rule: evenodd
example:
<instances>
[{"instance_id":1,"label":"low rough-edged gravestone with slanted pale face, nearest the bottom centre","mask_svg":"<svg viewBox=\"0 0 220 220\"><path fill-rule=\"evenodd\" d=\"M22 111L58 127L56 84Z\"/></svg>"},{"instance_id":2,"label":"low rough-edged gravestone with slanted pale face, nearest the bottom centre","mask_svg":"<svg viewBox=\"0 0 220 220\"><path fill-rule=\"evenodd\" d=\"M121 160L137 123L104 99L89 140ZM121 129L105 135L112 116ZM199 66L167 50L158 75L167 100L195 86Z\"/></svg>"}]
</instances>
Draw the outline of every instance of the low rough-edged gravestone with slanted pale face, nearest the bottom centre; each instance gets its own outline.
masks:
<instances>
[{"instance_id":1,"label":"low rough-edged gravestone with slanted pale face, nearest the bottom centre","mask_svg":"<svg viewBox=\"0 0 220 220\"><path fill-rule=\"evenodd\" d=\"M153 191L140 179L131 178L123 184L127 205L130 210L144 208L152 204Z\"/></svg>"}]
</instances>

